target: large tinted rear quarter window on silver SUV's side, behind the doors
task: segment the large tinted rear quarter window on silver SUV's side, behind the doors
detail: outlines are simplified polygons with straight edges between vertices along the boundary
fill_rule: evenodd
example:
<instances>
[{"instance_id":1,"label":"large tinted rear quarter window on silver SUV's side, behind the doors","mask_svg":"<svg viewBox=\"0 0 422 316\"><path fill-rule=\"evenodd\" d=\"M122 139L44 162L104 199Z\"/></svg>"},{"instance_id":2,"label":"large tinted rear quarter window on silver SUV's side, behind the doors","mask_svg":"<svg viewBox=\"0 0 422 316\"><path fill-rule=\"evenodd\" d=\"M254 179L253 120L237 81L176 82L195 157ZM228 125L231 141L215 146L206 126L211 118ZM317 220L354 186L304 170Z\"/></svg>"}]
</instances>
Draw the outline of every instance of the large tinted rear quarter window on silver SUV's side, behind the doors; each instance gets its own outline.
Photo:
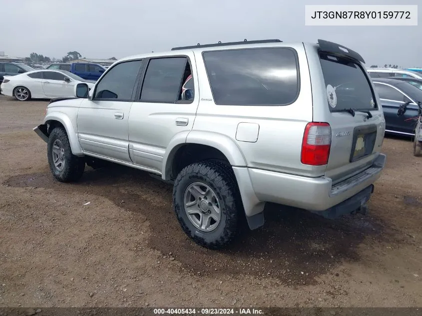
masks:
<instances>
[{"instance_id":1,"label":"large tinted rear quarter window on silver SUV's side, behind the doors","mask_svg":"<svg viewBox=\"0 0 422 316\"><path fill-rule=\"evenodd\" d=\"M288 105L299 94L296 51L289 47L203 53L215 104Z\"/></svg>"}]
</instances>

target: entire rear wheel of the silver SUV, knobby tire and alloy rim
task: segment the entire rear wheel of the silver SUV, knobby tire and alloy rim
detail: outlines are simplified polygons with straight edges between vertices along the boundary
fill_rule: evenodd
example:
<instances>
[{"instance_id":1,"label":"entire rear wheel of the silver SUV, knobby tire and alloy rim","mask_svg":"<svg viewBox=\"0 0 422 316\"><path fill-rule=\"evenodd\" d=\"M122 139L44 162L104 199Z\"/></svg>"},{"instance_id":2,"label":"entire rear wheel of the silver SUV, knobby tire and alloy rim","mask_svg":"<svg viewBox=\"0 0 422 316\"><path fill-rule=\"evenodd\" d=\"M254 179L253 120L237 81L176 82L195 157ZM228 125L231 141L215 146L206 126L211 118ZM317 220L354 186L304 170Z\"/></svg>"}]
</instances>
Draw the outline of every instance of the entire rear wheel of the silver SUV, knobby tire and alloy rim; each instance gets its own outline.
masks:
<instances>
[{"instance_id":1,"label":"entire rear wheel of the silver SUV, knobby tire and alloy rim","mask_svg":"<svg viewBox=\"0 0 422 316\"><path fill-rule=\"evenodd\" d=\"M242 210L233 170L214 161L183 168L174 182L173 207L193 241L205 248L224 248L238 233Z\"/></svg>"}]
</instances>

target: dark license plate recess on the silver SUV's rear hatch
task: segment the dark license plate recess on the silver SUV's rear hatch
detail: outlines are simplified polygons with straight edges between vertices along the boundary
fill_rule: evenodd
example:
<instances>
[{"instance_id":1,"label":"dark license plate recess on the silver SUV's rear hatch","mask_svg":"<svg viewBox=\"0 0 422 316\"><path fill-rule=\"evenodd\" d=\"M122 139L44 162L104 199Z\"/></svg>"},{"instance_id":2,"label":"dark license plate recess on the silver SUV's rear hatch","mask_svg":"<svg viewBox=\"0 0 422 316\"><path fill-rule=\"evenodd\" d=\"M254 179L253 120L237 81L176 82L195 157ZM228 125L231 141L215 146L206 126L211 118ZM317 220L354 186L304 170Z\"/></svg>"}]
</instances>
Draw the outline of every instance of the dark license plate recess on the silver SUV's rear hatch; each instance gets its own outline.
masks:
<instances>
[{"instance_id":1,"label":"dark license plate recess on the silver SUV's rear hatch","mask_svg":"<svg viewBox=\"0 0 422 316\"><path fill-rule=\"evenodd\" d=\"M372 154L377 140L377 125L357 126L353 132L350 162L365 158Z\"/></svg>"}]
</instances>

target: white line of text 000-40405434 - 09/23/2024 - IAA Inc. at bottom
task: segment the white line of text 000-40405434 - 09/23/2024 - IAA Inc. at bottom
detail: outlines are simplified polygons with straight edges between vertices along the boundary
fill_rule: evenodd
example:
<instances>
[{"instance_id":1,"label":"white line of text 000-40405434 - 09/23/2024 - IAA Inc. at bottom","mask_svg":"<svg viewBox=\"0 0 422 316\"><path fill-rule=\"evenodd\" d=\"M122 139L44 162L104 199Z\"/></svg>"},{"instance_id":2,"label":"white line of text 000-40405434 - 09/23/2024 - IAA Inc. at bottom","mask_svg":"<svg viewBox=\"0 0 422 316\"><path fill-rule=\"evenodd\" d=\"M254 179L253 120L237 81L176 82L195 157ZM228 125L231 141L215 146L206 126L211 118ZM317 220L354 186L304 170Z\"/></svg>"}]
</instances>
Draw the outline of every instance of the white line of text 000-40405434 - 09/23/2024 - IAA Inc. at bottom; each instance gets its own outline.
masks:
<instances>
[{"instance_id":1,"label":"white line of text 000-40405434 - 09/23/2024 - IAA Inc. at bottom","mask_svg":"<svg viewBox=\"0 0 422 316\"><path fill-rule=\"evenodd\" d=\"M154 309L154 315L263 315L260 309Z\"/></svg>"}]
</instances>

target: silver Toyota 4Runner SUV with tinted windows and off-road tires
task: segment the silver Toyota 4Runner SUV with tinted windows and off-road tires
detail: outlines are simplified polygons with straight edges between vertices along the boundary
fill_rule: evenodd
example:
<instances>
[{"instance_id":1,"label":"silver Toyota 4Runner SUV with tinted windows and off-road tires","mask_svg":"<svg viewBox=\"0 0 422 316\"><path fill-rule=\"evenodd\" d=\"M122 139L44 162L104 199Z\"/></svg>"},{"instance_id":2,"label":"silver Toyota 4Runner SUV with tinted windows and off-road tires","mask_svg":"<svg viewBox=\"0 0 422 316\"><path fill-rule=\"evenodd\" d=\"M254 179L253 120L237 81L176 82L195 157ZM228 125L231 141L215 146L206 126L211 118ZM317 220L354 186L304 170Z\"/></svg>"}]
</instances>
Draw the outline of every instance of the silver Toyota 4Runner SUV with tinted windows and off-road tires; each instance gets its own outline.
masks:
<instances>
[{"instance_id":1,"label":"silver Toyota 4Runner SUV with tinted windows and off-road tires","mask_svg":"<svg viewBox=\"0 0 422 316\"><path fill-rule=\"evenodd\" d=\"M266 202L328 218L366 208L386 162L378 95L336 43L243 41L123 58L52 100L34 131L62 182L111 161L174 183L184 232L229 244Z\"/></svg>"}]
</instances>

